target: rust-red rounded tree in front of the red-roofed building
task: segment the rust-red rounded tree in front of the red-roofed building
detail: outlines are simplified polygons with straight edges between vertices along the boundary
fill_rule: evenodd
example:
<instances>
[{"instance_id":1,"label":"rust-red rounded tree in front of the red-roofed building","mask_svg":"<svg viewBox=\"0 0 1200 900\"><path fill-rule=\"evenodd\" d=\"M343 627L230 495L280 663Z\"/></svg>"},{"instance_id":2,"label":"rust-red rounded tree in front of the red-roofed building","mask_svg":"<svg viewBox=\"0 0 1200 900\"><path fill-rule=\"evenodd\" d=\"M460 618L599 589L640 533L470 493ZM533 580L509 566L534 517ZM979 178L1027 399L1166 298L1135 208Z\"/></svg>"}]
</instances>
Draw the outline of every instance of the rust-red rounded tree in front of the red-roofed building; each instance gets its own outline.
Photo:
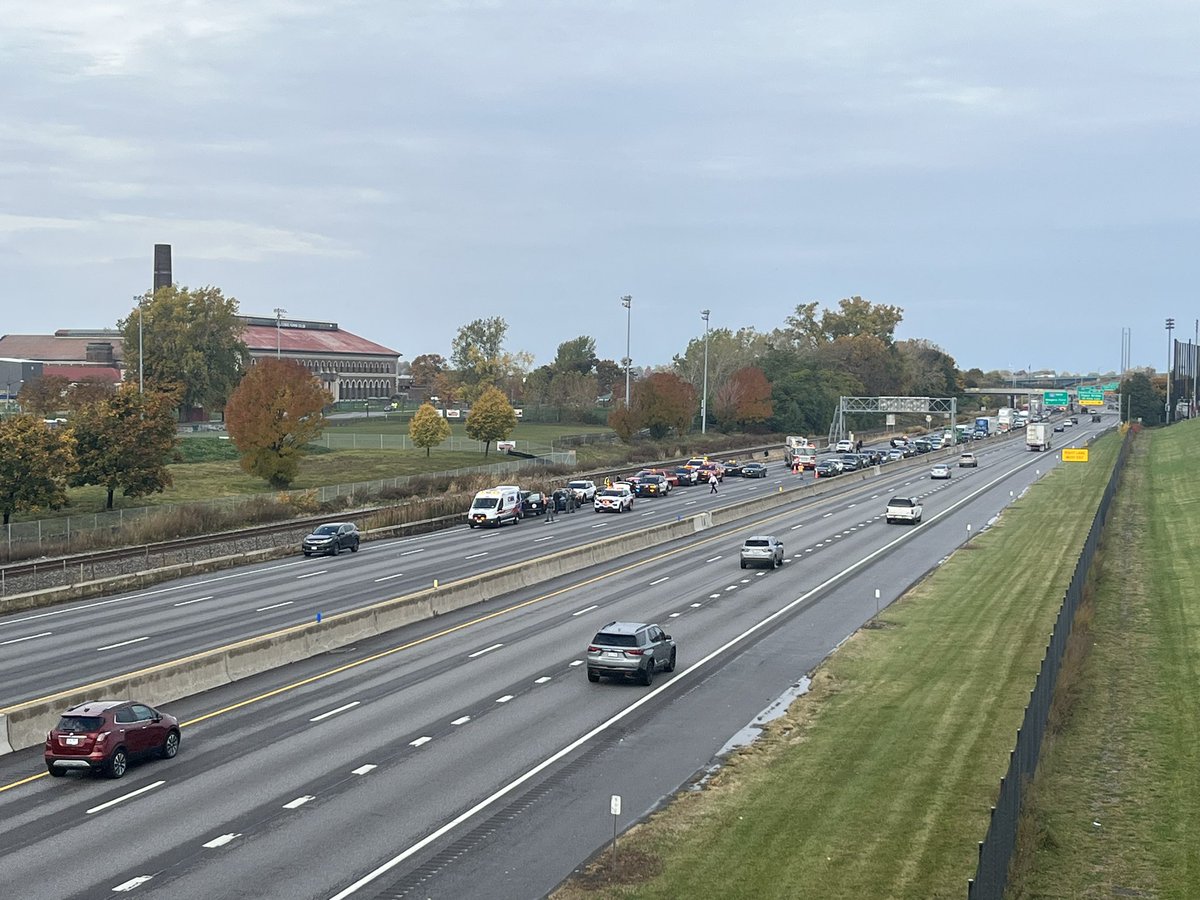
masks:
<instances>
[{"instance_id":1,"label":"rust-red rounded tree in front of the red-roofed building","mask_svg":"<svg viewBox=\"0 0 1200 900\"><path fill-rule=\"evenodd\" d=\"M262 359L251 366L226 406L226 428L241 467L284 488L295 481L305 445L325 427L332 397L294 360Z\"/></svg>"}]
</instances>

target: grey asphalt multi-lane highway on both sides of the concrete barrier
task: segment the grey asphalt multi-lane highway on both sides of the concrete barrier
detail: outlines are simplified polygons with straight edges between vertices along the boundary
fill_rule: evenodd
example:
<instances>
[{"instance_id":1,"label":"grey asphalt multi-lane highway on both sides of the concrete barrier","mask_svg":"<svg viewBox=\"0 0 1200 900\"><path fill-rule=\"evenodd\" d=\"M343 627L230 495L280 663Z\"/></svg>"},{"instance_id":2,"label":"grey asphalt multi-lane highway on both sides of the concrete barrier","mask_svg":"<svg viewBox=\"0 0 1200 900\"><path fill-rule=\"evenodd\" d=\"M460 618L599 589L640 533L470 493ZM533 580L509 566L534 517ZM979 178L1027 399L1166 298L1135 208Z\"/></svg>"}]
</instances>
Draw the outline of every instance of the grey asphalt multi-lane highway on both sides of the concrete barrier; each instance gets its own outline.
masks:
<instances>
[{"instance_id":1,"label":"grey asphalt multi-lane highway on both sides of the concrete barrier","mask_svg":"<svg viewBox=\"0 0 1200 900\"><path fill-rule=\"evenodd\" d=\"M1056 436L1058 445L1079 445L1099 427ZM180 755L136 766L120 781L52 780L40 748L0 757L0 884L30 900L113 892L542 896L611 839L611 794L623 798L623 829L703 773L733 734L877 604L890 602L949 556L968 524L976 534L986 528L1057 458L1026 452L1019 439L972 450L979 468L955 469L948 481L930 481L924 464L884 467L878 478L847 479L846 490L811 503L698 532L179 701L170 712L184 721ZM59 665L70 671L66 682L78 683L97 673L96 646L140 634L151 622L164 641L186 632L170 646L187 652L322 608L310 604L395 595L396 586L376 580L396 571L422 586L439 566L461 576L474 571L468 564L478 560L466 557L476 547L487 550L486 565L524 559L545 552L550 541L542 535L586 541L600 522L644 527L655 515L674 515L679 500L694 499L689 509L696 509L728 503L743 488L781 486L763 482L727 480L716 496L697 487L638 502L635 514L652 512L641 518L583 512L551 526L526 522L365 545L356 556L228 572L221 590L188 584L174 594L145 592L125 608L80 604L70 629L56 622L22 626L74 641ZM884 524L883 504L893 493L923 498L920 526ZM784 540L782 569L738 566L738 547L750 533ZM401 556L418 547L424 552ZM414 557L420 562L410 565ZM304 581L318 576L295 583L298 575L322 569L336 574L311 595ZM205 594L222 598L208 610L221 610L215 618L246 614L224 631L196 613L208 601L174 606ZM270 622L248 614L268 598L300 595L305 602L294 606L301 608ZM660 674L649 689L589 684L584 648L612 619L661 623L679 646L677 671ZM103 636L92 637L94 628ZM86 641L71 637L73 631L86 631ZM31 643L0 644L6 683L10 673L20 674L10 652L26 653ZM76 653L89 655L74 660ZM41 680L26 680L23 691L54 677L50 664L38 665Z\"/></svg>"}]
</instances>

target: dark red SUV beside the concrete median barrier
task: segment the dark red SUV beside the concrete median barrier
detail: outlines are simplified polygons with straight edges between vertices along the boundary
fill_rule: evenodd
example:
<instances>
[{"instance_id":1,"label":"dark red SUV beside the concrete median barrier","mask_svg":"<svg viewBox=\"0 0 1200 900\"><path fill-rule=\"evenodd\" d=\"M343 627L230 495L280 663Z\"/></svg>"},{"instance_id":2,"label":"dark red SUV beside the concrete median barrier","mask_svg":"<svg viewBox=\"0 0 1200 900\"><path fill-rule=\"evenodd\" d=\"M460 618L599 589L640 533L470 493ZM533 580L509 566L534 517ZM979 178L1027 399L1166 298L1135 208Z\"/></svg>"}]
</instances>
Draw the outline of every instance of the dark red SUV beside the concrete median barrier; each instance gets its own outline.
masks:
<instances>
[{"instance_id":1,"label":"dark red SUV beside the concrete median barrier","mask_svg":"<svg viewBox=\"0 0 1200 900\"><path fill-rule=\"evenodd\" d=\"M92 700L72 707L46 736L46 768L55 778L70 769L120 778L130 760L179 752L179 720L144 703Z\"/></svg>"}]
</instances>

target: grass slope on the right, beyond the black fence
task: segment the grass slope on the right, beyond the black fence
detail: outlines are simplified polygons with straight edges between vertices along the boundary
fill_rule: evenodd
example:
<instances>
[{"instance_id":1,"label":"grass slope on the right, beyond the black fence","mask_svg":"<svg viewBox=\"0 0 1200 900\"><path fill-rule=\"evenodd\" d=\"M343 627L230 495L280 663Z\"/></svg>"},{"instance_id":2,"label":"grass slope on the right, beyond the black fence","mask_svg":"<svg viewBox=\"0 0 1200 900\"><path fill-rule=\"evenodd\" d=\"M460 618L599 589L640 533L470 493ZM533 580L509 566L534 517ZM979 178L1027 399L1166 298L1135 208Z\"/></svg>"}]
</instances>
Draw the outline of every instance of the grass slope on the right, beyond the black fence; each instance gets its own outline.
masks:
<instances>
[{"instance_id":1,"label":"grass slope on the right, beyond the black fence","mask_svg":"<svg viewBox=\"0 0 1200 900\"><path fill-rule=\"evenodd\" d=\"M1064 667L1009 896L1200 894L1200 422L1140 436Z\"/></svg>"}]
</instances>

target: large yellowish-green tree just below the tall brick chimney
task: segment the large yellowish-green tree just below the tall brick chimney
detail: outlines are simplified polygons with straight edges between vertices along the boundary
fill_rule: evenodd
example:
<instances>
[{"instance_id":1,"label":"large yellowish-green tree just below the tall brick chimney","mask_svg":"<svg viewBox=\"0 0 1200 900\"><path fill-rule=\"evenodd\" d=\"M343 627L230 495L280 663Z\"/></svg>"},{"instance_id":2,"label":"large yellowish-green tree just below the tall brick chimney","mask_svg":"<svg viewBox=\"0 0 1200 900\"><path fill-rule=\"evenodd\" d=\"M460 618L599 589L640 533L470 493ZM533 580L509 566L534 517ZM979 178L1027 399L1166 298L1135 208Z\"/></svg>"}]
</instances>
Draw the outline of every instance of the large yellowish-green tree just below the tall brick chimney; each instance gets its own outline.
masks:
<instances>
[{"instance_id":1,"label":"large yellowish-green tree just below the tall brick chimney","mask_svg":"<svg viewBox=\"0 0 1200 900\"><path fill-rule=\"evenodd\" d=\"M220 288L176 286L143 299L118 323L125 338L125 377L134 383L139 318L146 383L181 386L186 409L223 409L248 360L238 301Z\"/></svg>"}]
</instances>

